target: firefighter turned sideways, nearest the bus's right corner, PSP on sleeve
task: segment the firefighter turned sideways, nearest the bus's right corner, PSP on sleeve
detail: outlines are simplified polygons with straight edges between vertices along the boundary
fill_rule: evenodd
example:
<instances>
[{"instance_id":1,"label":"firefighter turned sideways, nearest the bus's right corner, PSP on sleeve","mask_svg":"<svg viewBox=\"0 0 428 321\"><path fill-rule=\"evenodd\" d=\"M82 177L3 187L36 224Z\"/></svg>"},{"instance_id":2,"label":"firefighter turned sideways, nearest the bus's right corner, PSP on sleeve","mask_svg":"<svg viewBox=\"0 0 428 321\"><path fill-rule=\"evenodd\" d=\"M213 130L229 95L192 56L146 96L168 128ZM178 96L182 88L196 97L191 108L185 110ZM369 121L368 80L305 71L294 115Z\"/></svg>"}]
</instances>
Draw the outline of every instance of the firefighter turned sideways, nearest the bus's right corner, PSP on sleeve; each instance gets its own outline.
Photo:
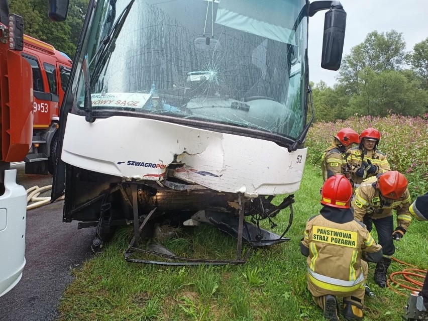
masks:
<instances>
[{"instance_id":1,"label":"firefighter turned sideways, nearest the bus's right corner, PSP on sleeve","mask_svg":"<svg viewBox=\"0 0 428 321\"><path fill-rule=\"evenodd\" d=\"M325 150L322 157L324 181L335 174L344 174L350 178L347 151L359 142L358 133L350 128L343 128L333 136L332 145Z\"/></svg>"}]
</instances>

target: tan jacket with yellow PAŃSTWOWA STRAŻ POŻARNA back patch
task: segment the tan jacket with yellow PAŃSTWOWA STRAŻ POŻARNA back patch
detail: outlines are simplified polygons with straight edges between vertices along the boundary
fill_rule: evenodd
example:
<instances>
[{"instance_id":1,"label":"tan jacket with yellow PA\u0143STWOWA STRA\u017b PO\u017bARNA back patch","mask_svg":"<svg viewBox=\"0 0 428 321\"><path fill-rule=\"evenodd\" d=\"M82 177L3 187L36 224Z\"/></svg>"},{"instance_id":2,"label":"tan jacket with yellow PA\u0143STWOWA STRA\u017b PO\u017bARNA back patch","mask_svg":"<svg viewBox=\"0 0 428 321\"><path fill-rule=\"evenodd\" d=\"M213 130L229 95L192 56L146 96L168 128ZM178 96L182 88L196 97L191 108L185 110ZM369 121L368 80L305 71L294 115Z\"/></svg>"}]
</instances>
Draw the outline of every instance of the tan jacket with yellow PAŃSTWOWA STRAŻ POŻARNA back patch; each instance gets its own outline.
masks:
<instances>
[{"instance_id":1,"label":"tan jacket with yellow PA\u0143STWOWA STRA\u017b PO\u017bARNA back patch","mask_svg":"<svg viewBox=\"0 0 428 321\"><path fill-rule=\"evenodd\" d=\"M307 222L302 245L309 249L309 280L320 288L338 292L356 290L364 283L362 252L382 251L364 224L335 223L322 215Z\"/></svg>"}]
</instances>

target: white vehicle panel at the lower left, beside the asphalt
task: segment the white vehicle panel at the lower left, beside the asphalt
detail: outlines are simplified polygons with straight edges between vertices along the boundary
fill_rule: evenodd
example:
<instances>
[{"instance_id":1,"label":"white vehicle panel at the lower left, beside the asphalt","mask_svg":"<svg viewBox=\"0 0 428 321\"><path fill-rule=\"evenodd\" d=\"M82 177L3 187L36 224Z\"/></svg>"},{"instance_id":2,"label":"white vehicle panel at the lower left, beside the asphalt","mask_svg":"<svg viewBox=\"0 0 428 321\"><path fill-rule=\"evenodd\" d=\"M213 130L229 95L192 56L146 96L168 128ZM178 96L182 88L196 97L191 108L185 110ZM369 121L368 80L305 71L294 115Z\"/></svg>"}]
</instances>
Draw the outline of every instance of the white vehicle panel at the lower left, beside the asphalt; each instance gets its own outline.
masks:
<instances>
[{"instance_id":1,"label":"white vehicle panel at the lower left, beside the asphalt","mask_svg":"<svg viewBox=\"0 0 428 321\"><path fill-rule=\"evenodd\" d=\"M16 176L16 169L5 171L6 190L0 196L0 296L21 280L25 266L27 193Z\"/></svg>"}]
</instances>

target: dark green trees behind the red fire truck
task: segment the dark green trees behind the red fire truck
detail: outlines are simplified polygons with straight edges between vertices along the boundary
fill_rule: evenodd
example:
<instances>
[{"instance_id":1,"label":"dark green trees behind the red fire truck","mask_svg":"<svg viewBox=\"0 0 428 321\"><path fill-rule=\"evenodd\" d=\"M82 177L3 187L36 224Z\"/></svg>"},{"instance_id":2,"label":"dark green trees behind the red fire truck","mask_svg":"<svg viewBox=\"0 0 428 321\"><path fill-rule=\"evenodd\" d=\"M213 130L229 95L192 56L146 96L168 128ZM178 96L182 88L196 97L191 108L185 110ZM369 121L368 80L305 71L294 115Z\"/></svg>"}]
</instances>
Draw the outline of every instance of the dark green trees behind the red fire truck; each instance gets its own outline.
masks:
<instances>
[{"instance_id":1,"label":"dark green trees behind the red fire truck","mask_svg":"<svg viewBox=\"0 0 428 321\"><path fill-rule=\"evenodd\" d=\"M23 17L24 33L74 58L89 0L70 0L65 22L51 22L48 0L10 0L10 12Z\"/></svg>"}]
</instances>

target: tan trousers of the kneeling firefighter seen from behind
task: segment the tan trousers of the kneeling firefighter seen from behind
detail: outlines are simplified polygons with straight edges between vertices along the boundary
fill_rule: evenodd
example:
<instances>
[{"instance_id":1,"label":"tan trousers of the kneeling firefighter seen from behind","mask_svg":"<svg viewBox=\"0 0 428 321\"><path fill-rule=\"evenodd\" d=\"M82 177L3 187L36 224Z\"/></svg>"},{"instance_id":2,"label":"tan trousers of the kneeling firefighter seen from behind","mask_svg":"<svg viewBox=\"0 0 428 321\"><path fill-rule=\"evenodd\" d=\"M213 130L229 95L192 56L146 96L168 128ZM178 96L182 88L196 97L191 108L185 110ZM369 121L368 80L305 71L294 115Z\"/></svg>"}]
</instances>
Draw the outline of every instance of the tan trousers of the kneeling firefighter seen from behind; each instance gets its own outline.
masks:
<instances>
[{"instance_id":1,"label":"tan trousers of the kneeling firefighter seen from behind","mask_svg":"<svg viewBox=\"0 0 428 321\"><path fill-rule=\"evenodd\" d=\"M363 307L364 304L364 294L365 294L365 283L367 280L367 275L369 272L369 267L366 261L361 260L361 269L363 270L364 275L364 281L361 283L361 286L350 292L339 292L339 291L332 291L329 289L323 289L315 284L313 284L309 278L307 278L307 289L309 290L310 294L312 294L313 301L322 309L324 309L324 302L323 302L323 296L325 295L335 295L343 297L344 303L351 303L353 305L358 306L359 308Z\"/></svg>"}]
</instances>

